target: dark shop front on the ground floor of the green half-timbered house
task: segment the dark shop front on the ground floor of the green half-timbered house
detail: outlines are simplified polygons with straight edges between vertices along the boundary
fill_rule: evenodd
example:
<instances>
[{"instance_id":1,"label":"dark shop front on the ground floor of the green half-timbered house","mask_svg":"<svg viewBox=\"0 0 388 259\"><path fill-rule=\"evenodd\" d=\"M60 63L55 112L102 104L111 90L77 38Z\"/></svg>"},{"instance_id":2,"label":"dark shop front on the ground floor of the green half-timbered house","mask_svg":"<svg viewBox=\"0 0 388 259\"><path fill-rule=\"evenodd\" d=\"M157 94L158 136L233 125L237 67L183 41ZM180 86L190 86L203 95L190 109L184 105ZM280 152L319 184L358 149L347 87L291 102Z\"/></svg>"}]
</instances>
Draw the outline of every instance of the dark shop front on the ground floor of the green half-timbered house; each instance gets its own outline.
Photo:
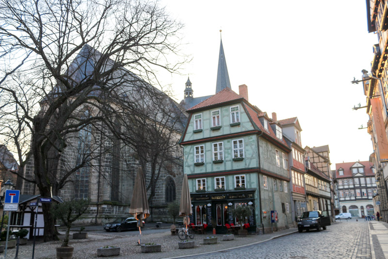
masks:
<instances>
[{"instance_id":1,"label":"dark shop front on the ground floor of the green half-timbered house","mask_svg":"<svg viewBox=\"0 0 388 259\"><path fill-rule=\"evenodd\" d=\"M207 224L206 231L211 231L212 224L216 225L217 233L226 233L225 224L240 224L233 216L232 208L237 204L251 205L255 208L255 189L243 191L190 193L193 214L190 223L196 225ZM256 231L255 209L251 216L245 218L242 224L249 223L248 231Z\"/></svg>"}]
</instances>

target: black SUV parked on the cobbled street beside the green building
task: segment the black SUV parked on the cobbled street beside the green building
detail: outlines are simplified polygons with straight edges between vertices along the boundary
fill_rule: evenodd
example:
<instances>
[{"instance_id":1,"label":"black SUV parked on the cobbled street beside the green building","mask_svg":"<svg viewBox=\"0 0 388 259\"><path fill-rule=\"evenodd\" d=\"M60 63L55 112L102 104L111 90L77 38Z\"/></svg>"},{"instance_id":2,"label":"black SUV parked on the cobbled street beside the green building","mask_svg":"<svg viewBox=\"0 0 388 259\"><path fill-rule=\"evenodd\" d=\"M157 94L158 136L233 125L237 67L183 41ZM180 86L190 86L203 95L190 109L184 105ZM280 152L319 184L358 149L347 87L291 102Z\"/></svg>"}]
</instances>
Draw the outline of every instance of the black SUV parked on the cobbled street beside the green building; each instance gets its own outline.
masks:
<instances>
[{"instance_id":1,"label":"black SUV parked on the cobbled street beside the green building","mask_svg":"<svg viewBox=\"0 0 388 259\"><path fill-rule=\"evenodd\" d=\"M321 231L326 229L326 226L331 225L330 217L322 215L320 210L303 212L302 217L298 220L298 231L301 233L303 230L316 229Z\"/></svg>"}]
</instances>

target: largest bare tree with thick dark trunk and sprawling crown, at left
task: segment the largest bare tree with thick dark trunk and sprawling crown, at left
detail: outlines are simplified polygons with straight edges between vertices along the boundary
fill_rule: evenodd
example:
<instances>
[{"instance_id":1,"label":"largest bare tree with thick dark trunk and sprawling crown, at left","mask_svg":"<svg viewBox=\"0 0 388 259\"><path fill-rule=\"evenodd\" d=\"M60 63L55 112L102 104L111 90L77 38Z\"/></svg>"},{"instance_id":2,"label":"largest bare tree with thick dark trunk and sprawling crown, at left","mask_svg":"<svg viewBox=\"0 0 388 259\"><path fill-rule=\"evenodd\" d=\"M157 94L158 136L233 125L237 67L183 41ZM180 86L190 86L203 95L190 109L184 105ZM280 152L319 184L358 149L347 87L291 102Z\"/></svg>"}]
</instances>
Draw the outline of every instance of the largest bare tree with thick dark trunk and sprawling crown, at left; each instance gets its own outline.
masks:
<instances>
[{"instance_id":1,"label":"largest bare tree with thick dark trunk and sprawling crown, at left","mask_svg":"<svg viewBox=\"0 0 388 259\"><path fill-rule=\"evenodd\" d=\"M114 132L117 108L138 107L129 92L179 67L167 55L178 52L181 24L152 1L0 0L0 20L0 135L42 196L91 160L61 173L66 136L97 122ZM30 159L33 179L23 175ZM57 239L49 210L45 241Z\"/></svg>"}]
</instances>

